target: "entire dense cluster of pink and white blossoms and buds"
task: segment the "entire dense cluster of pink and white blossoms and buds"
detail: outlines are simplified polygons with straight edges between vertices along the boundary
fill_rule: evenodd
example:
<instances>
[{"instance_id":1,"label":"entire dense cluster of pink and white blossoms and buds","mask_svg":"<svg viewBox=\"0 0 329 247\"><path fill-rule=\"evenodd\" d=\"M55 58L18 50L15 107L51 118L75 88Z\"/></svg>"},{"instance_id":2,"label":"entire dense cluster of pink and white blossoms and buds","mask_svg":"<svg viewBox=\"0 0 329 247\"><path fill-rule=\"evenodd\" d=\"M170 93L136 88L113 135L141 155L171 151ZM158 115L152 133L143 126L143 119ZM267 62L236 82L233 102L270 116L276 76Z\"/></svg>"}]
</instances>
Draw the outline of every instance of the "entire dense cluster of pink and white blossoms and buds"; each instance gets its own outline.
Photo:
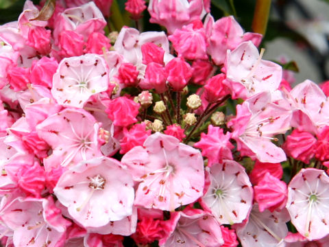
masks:
<instances>
[{"instance_id":1,"label":"entire dense cluster of pink and white blossoms and buds","mask_svg":"<svg viewBox=\"0 0 329 247\"><path fill-rule=\"evenodd\" d=\"M49 2L0 26L2 244L328 242L329 102L260 34L206 0L128 0L167 33L119 34L112 1Z\"/></svg>"}]
</instances>

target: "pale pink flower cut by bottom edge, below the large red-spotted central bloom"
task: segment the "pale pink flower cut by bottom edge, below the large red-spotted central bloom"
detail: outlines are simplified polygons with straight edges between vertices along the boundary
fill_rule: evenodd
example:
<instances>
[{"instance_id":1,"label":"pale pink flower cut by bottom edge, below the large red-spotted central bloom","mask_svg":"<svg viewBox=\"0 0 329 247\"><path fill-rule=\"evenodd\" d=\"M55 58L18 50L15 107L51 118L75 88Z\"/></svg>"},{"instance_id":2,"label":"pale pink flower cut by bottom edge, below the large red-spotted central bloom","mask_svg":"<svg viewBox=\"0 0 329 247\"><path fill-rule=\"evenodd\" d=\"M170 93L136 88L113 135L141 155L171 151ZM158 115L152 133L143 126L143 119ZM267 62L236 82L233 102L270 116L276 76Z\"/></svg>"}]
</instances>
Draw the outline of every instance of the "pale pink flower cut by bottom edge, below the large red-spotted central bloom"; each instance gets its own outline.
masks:
<instances>
[{"instance_id":1,"label":"pale pink flower cut by bottom edge, below the large red-spotted central bloom","mask_svg":"<svg viewBox=\"0 0 329 247\"><path fill-rule=\"evenodd\" d=\"M161 239L161 247L215 247L224 244L221 227L215 217L200 209L187 207L184 211L172 212L171 217L177 222L174 231Z\"/></svg>"}]
</instances>

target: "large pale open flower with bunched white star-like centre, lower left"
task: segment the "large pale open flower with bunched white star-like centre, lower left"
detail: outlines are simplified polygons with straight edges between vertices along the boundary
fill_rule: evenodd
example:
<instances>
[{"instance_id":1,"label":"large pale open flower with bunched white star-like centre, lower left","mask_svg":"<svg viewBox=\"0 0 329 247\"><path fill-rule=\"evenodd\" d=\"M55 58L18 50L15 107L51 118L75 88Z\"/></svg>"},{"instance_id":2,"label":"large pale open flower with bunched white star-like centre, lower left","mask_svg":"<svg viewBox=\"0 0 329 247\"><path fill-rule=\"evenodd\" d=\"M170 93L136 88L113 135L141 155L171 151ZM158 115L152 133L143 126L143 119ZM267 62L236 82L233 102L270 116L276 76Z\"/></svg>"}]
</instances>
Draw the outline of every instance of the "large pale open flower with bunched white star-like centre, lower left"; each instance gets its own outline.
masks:
<instances>
[{"instance_id":1,"label":"large pale open flower with bunched white star-like centre, lower left","mask_svg":"<svg viewBox=\"0 0 329 247\"><path fill-rule=\"evenodd\" d=\"M132 215L132 176L112 158L81 162L62 174L53 191L84 227L105 226Z\"/></svg>"}]
</instances>

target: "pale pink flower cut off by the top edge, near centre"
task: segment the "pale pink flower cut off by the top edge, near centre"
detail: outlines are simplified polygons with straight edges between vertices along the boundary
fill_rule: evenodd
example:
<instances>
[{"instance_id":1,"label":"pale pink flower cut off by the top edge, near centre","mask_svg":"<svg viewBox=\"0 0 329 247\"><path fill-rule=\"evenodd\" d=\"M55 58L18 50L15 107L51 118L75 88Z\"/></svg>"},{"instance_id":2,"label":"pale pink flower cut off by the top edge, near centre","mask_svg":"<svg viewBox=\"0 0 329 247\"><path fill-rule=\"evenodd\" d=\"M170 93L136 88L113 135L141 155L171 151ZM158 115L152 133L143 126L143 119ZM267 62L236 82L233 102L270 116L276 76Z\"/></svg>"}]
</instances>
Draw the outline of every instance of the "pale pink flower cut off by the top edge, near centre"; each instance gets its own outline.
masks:
<instances>
[{"instance_id":1,"label":"pale pink flower cut off by the top edge, near centre","mask_svg":"<svg viewBox=\"0 0 329 247\"><path fill-rule=\"evenodd\" d=\"M173 34L183 25L202 19L205 14L203 8L202 0L151 0L147 10L151 15L151 23L163 25L169 34Z\"/></svg>"}]
</instances>

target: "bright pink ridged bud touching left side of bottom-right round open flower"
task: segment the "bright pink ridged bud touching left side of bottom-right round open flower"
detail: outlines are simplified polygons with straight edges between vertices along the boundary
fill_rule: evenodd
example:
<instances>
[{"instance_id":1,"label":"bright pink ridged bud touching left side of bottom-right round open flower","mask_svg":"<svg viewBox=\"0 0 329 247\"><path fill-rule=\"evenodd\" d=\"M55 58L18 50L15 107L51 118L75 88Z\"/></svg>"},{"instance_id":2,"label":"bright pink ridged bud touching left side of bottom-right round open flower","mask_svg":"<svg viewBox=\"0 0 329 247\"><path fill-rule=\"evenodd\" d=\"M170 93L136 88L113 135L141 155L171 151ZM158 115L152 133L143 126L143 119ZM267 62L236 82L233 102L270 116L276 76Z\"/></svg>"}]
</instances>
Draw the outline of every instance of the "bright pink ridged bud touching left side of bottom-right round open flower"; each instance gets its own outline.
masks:
<instances>
[{"instance_id":1,"label":"bright pink ridged bud touching left side of bottom-right round open flower","mask_svg":"<svg viewBox=\"0 0 329 247\"><path fill-rule=\"evenodd\" d=\"M254 187L255 200L259 211L265 209L273 212L286 206L288 198L287 184L267 172L258 185Z\"/></svg>"}]
</instances>

